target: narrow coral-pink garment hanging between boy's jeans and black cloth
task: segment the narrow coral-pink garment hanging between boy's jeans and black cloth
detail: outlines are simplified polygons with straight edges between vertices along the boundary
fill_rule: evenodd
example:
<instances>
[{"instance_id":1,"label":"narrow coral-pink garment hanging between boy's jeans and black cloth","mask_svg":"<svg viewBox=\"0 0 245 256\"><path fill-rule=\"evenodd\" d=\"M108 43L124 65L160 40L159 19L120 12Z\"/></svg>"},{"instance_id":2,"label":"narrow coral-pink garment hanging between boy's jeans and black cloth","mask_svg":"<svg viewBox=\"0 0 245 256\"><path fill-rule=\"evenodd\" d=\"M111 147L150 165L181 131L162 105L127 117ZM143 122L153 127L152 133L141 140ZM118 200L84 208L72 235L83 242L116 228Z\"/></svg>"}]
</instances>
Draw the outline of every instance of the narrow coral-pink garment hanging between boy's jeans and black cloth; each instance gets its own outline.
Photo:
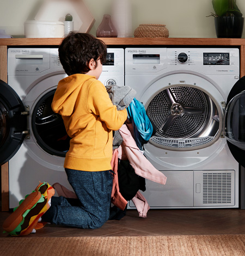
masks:
<instances>
[{"instance_id":1,"label":"narrow coral-pink garment hanging between boy's jeans and black cloth","mask_svg":"<svg viewBox=\"0 0 245 256\"><path fill-rule=\"evenodd\" d=\"M111 202L117 206L122 211L125 209L127 205L127 200L122 197L119 191L119 182L118 182L118 149L114 149L111 166L113 170L113 183L112 183L112 195Z\"/></svg>"}]
</instances>

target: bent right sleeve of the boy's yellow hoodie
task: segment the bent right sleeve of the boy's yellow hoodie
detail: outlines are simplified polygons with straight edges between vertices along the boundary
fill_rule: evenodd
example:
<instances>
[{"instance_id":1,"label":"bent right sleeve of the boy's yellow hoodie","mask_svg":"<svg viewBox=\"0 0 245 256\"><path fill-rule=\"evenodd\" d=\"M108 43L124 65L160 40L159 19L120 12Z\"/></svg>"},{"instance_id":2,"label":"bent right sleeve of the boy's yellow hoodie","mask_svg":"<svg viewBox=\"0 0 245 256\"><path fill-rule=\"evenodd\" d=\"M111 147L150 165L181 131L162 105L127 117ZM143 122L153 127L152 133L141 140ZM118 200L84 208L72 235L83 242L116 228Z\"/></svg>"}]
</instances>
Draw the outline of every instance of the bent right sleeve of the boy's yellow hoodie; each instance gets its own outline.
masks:
<instances>
[{"instance_id":1,"label":"bent right sleeve of the boy's yellow hoodie","mask_svg":"<svg viewBox=\"0 0 245 256\"><path fill-rule=\"evenodd\" d=\"M126 108L122 111L117 110L109 98L106 87L100 81L91 83L87 99L88 110L98 115L108 129L117 131L124 124L127 118Z\"/></svg>"}]
</instances>

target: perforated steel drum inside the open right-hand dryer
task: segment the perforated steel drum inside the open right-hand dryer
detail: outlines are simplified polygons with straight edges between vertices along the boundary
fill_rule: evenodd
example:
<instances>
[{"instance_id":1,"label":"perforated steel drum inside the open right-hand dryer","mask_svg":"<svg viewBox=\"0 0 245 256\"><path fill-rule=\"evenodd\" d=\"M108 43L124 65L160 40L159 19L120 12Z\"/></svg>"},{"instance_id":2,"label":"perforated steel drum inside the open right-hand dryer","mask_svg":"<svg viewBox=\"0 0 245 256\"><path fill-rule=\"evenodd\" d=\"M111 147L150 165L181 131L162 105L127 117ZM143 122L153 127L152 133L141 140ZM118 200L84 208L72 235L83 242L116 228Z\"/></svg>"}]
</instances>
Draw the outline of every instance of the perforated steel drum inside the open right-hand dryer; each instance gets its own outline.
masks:
<instances>
[{"instance_id":1,"label":"perforated steel drum inside the open right-hand dryer","mask_svg":"<svg viewBox=\"0 0 245 256\"><path fill-rule=\"evenodd\" d=\"M212 141L218 132L215 103L194 87L175 86L162 90L150 101L146 113L156 128L151 142L160 145L200 146ZM174 139L173 142L169 138ZM186 141L186 138L198 138L198 142L197 139Z\"/></svg>"}]
</instances>

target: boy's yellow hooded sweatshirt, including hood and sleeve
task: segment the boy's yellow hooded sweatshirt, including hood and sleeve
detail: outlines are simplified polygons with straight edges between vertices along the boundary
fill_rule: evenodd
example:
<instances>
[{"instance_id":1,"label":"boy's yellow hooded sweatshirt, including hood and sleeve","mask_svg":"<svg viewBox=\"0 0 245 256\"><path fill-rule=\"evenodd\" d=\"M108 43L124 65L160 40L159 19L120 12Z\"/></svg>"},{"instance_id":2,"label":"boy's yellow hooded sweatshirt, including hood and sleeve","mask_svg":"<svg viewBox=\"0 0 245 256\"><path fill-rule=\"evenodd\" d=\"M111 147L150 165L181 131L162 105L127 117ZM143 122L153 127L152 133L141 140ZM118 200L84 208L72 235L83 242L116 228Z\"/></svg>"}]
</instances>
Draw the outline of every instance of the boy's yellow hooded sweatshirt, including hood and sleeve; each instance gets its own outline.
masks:
<instances>
[{"instance_id":1,"label":"boy's yellow hooded sweatshirt, including hood and sleeve","mask_svg":"<svg viewBox=\"0 0 245 256\"><path fill-rule=\"evenodd\" d=\"M111 169L112 130L127 118L118 111L105 86L94 76L75 74L59 81L52 109L62 115L71 137L64 167L85 171Z\"/></svg>"}]
</instances>

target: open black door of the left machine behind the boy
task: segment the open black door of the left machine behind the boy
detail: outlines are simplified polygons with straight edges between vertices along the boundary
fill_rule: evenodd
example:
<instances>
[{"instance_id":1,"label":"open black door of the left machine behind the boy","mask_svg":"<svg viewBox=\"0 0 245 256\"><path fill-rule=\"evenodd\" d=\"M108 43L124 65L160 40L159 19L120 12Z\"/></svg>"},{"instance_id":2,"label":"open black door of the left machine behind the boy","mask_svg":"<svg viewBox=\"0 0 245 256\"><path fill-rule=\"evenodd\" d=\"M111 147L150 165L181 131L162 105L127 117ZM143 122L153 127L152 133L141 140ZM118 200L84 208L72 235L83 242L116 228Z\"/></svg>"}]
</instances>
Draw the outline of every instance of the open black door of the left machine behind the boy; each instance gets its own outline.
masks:
<instances>
[{"instance_id":1,"label":"open black door of the left machine behind the boy","mask_svg":"<svg viewBox=\"0 0 245 256\"><path fill-rule=\"evenodd\" d=\"M26 136L27 116L15 90L0 80L0 165L19 150Z\"/></svg>"}]
</instances>

